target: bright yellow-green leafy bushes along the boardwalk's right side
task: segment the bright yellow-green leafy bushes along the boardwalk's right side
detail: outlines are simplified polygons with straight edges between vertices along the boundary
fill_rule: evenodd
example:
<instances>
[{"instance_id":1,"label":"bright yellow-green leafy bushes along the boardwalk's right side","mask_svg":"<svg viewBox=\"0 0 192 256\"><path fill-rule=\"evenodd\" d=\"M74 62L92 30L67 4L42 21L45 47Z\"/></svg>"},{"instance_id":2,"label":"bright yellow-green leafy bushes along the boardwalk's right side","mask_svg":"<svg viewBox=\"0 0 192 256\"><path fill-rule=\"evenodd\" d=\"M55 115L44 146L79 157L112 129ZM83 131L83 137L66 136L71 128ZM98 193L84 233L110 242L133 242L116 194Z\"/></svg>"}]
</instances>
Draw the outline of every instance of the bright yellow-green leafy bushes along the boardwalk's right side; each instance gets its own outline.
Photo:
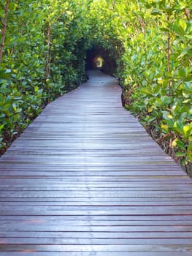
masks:
<instances>
[{"instance_id":1,"label":"bright yellow-green leafy bushes along the boardwalk's right side","mask_svg":"<svg viewBox=\"0 0 192 256\"><path fill-rule=\"evenodd\" d=\"M191 1L98 0L96 37L118 59L126 108L192 161Z\"/></svg>"}]
</instances>

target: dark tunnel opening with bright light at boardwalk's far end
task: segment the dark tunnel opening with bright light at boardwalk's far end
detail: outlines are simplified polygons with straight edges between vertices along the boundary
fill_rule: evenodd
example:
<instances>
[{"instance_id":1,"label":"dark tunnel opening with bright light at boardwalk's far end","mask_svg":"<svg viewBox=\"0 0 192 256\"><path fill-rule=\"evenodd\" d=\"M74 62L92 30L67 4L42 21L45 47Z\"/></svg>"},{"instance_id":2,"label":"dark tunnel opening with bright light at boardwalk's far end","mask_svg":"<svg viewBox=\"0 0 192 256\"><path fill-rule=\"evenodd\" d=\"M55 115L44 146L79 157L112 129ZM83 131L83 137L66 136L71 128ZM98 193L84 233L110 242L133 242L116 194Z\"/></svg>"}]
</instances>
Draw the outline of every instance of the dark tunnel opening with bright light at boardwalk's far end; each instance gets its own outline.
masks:
<instances>
[{"instance_id":1,"label":"dark tunnel opening with bright light at boardwalk's far end","mask_svg":"<svg viewBox=\"0 0 192 256\"><path fill-rule=\"evenodd\" d=\"M88 71L90 69L100 69L106 74L114 75L117 64L110 50L98 45L94 45L91 49L87 50L85 70Z\"/></svg>"}]
</instances>

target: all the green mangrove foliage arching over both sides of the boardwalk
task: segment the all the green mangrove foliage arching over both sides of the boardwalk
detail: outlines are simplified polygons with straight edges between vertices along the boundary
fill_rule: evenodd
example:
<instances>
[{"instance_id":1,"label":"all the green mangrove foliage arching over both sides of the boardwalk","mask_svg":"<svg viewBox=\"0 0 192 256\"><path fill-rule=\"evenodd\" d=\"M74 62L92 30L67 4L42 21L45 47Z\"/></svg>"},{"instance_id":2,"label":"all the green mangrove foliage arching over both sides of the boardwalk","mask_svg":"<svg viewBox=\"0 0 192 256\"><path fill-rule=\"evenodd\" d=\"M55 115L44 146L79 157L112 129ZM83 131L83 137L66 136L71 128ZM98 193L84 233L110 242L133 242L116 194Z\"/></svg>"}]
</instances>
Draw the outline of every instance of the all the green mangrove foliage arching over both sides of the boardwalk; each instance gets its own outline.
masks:
<instances>
[{"instance_id":1,"label":"all the green mangrove foliage arching over both sides of the boardwalk","mask_svg":"<svg viewBox=\"0 0 192 256\"><path fill-rule=\"evenodd\" d=\"M86 50L117 60L123 103L192 162L191 0L1 1L0 142L85 79Z\"/></svg>"}]
</instances>

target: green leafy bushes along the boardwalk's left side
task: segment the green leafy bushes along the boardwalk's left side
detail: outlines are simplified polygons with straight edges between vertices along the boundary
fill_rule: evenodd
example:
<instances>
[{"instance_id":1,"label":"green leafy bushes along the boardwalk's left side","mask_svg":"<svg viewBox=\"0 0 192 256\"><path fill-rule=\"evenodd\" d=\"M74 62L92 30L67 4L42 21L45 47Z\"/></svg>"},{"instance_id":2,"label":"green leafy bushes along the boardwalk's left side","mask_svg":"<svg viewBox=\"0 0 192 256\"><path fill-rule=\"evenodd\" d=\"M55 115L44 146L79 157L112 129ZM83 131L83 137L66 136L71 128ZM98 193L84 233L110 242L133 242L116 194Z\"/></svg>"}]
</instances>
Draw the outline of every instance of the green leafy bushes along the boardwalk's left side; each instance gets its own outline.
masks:
<instances>
[{"instance_id":1,"label":"green leafy bushes along the boardwalk's left side","mask_svg":"<svg viewBox=\"0 0 192 256\"><path fill-rule=\"evenodd\" d=\"M1 1L0 41L7 1ZM77 1L9 1L0 61L0 150L85 79L87 25ZM34 15L35 13L35 15ZM79 45L81 43L81 45Z\"/></svg>"}]
</instances>

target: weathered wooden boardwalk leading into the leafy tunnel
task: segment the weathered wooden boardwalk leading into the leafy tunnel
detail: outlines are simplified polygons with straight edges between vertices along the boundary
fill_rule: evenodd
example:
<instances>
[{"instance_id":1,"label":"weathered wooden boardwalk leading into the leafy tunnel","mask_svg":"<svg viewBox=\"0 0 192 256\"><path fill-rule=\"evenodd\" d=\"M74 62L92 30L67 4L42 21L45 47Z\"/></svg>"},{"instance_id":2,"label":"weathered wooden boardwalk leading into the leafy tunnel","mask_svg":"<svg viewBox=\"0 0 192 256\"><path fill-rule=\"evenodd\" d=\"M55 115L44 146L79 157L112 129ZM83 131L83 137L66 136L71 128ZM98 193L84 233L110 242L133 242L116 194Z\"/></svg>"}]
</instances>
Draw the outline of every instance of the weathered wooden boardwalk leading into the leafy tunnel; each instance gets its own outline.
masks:
<instances>
[{"instance_id":1,"label":"weathered wooden boardwalk leading into the leafy tunnel","mask_svg":"<svg viewBox=\"0 0 192 256\"><path fill-rule=\"evenodd\" d=\"M99 71L48 105L0 170L1 256L192 254L191 178Z\"/></svg>"}]
</instances>

